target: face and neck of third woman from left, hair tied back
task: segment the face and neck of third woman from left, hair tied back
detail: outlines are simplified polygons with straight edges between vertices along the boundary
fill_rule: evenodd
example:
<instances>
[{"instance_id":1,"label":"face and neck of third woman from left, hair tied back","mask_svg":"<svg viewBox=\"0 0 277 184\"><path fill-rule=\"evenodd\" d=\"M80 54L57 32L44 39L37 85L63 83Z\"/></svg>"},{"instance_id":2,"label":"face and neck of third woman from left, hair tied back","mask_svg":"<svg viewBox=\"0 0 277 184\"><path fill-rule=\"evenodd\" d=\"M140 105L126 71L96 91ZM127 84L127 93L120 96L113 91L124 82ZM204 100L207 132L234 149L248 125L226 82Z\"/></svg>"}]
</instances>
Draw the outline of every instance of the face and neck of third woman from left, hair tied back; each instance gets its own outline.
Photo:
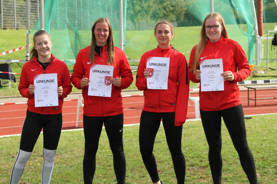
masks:
<instances>
[{"instance_id":1,"label":"face and neck of third woman from left, hair tied back","mask_svg":"<svg viewBox=\"0 0 277 184\"><path fill-rule=\"evenodd\" d=\"M173 37L171 28L167 24L159 24L156 28L155 38L158 42L159 48L168 48L170 46L170 40Z\"/></svg>"}]
</instances>

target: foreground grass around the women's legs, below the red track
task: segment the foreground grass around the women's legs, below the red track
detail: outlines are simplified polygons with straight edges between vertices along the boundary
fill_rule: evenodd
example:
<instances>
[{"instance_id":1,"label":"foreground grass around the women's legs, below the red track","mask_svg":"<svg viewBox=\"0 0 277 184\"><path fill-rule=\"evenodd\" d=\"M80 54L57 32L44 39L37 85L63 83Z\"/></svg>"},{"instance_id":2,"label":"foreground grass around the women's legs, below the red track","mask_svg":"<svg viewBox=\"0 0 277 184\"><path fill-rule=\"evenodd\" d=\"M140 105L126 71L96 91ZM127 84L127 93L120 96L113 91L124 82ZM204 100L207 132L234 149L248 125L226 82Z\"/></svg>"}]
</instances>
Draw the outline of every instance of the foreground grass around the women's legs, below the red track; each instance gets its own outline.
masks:
<instances>
[{"instance_id":1,"label":"foreground grass around the women's legs, below the red track","mask_svg":"<svg viewBox=\"0 0 277 184\"><path fill-rule=\"evenodd\" d=\"M277 115L252 116L246 120L247 140L254 155L258 183L277 183ZM42 166L42 134L26 164L20 184L40 183ZM126 156L126 184L151 183L139 152L139 126L124 127L123 142ZM0 183L8 183L20 136L0 138ZM247 184L247 177L240 165L239 156L232 145L227 128L222 122L222 183ZM201 121L188 121L183 125L182 150L186 159L186 183L212 183L208 162L208 145ZM82 183L82 159L84 153L83 131L62 132L55 157L53 184ZM166 184L176 183L171 156L165 140L163 126L157 134L154 146L159 176ZM96 155L94 183L116 183L112 153L106 132L103 130Z\"/></svg>"}]
</instances>

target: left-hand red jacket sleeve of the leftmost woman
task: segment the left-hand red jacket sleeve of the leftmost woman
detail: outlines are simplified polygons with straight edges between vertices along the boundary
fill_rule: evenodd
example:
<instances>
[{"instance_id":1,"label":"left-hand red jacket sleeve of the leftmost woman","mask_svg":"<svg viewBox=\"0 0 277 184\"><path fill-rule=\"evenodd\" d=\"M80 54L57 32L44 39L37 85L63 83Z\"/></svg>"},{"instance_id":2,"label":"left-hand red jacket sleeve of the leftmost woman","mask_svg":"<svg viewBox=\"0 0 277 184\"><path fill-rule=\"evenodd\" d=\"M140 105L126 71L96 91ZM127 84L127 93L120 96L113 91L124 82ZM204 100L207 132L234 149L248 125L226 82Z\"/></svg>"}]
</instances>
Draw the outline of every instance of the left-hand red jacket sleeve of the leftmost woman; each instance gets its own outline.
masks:
<instances>
[{"instance_id":1,"label":"left-hand red jacket sleeve of the leftmost woman","mask_svg":"<svg viewBox=\"0 0 277 184\"><path fill-rule=\"evenodd\" d=\"M28 80L27 73L26 73L26 65L23 65L21 75L20 75L19 85L18 85L19 93L23 98L32 98L34 96L34 95L31 95L28 90L29 85L30 85L30 82Z\"/></svg>"}]
</instances>

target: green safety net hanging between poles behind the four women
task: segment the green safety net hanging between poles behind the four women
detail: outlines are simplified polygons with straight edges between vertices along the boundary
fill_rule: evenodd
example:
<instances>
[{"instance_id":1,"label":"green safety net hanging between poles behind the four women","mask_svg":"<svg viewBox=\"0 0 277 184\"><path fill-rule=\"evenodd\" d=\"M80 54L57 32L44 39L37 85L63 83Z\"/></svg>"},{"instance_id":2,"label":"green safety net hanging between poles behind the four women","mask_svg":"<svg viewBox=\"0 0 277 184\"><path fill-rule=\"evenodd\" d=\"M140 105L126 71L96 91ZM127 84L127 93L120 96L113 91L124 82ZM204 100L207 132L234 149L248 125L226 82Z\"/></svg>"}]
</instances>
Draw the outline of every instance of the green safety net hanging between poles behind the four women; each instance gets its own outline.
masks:
<instances>
[{"instance_id":1,"label":"green safety net hanging between poles behind the four women","mask_svg":"<svg viewBox=\"0 0 277 184\"><path fill-rule=\"evenodd\" d=\"M157 47L154 26L161 19L174 25L171 44L189 59L209 12L210 0L123 0L124 52L130 66L137 68L142 54ZM214 0L214 12L223 16L229 38L239 42L249 63L253 63L256 56L251 0ZM119 0L45 1L44 27L51 36L52 53L70 71L80 49L90 45L91 27L99 17L111 21L114 43L119 47ZM40 19L31 34L38 29Z\"/></svg>"}]
</instances>

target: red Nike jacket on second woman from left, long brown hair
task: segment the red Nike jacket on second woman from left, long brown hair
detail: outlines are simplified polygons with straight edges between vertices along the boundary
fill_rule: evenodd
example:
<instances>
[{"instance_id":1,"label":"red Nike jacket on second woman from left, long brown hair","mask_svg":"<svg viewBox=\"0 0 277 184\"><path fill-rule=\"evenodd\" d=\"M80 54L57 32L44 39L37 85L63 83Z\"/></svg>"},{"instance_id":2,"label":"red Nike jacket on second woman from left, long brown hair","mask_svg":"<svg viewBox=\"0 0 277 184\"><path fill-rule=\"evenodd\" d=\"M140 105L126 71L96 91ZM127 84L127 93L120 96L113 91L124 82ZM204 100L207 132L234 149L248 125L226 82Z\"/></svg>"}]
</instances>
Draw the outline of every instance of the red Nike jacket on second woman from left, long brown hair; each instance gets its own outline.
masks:
<instances>
[{"instance_id":1,"label":"red Nike jacket on second woman from left, long brown hair","mask_svg":"<svg viewBox=\"0 0 277 184\"><path fill-rule=\"evenodd\" d=\"M106 46L102 48L102 63L100 57L95 52L94 63L107 65L108 55L106 53ZM90 78L90 46L80 50L78 53L76 63L74 65L73 73L71 75L71 82L77 89L82 89L84 98L84 115L102 117L113 116L123 113L121 90L126 89L133 82L133 75L127 61L125 53L115 47L115 63L113 78L121 77L121 86L112 85L111 97L88 96L88 86L81 88L81 79L83 77Z\"/></svg>"}]
</instances>

